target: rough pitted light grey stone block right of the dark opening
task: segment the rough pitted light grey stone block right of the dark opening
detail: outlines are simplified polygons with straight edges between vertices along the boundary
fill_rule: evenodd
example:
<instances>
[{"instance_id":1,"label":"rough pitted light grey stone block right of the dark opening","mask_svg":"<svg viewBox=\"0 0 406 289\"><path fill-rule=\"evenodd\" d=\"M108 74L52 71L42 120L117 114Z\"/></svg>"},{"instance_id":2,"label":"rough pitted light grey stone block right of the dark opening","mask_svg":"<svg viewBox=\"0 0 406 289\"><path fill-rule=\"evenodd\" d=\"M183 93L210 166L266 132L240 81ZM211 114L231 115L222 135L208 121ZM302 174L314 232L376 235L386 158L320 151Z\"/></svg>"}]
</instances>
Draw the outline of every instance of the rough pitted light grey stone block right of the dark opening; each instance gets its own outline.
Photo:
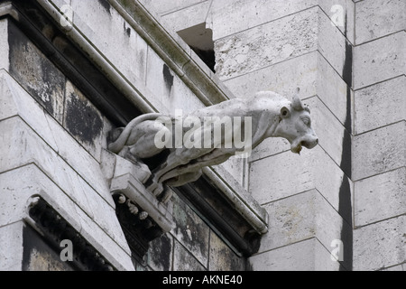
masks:
<instances>
[{"instance_id":1,"label":"rough pitted light grey stone block right of the dark opening","mask_svg":"<svg viewBox=\"0 0 406 289\"><path fill-rule=\"evenodd\" d=\"M316 51L317 40L318 8L313 8L215 41L215 69L220 79L230 79Z\"/></svg>"}]
</instances>

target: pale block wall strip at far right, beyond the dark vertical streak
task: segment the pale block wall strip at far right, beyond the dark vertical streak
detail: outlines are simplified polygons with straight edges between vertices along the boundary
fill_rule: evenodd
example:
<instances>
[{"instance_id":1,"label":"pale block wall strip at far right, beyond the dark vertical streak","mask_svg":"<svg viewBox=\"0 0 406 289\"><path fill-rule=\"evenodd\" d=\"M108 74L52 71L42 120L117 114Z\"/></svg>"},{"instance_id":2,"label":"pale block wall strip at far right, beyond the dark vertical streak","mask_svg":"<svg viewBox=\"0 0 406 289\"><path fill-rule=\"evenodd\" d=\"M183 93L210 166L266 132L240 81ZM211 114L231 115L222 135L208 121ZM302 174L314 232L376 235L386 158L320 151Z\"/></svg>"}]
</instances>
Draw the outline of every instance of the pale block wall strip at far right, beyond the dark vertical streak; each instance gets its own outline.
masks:
<instances>
[{"instance_id":1,"label":"pale block wall strip at far right, beyond the dark vertical streak","mask_svg":"<svg viewBox=\"0 0 406 289\"><path fill-rule=\"evenodd\" d=\"M405 270L406 3L355 3L354 269Z\"/></svg>"}]
</instances>

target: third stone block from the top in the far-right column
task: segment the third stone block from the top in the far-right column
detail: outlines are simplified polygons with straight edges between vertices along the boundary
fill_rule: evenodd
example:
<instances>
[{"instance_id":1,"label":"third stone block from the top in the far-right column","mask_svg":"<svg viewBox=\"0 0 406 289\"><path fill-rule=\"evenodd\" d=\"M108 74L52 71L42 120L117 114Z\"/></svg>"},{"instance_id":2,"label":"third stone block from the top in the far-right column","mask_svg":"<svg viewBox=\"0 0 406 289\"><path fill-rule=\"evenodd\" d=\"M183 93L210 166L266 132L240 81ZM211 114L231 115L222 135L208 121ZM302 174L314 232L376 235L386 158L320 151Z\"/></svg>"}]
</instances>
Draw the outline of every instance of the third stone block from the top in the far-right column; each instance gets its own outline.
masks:
<instances>
[{"instance_id":1,"label":"third stone block from the top in the far-right column","mask_svg":"<svg viewBox=\"0 0 406 289\"><path fill-rule=\"evenodd\" d=\"M404 75L355 91L355 135L406 119Z\"/></svg>"}]
</instances>

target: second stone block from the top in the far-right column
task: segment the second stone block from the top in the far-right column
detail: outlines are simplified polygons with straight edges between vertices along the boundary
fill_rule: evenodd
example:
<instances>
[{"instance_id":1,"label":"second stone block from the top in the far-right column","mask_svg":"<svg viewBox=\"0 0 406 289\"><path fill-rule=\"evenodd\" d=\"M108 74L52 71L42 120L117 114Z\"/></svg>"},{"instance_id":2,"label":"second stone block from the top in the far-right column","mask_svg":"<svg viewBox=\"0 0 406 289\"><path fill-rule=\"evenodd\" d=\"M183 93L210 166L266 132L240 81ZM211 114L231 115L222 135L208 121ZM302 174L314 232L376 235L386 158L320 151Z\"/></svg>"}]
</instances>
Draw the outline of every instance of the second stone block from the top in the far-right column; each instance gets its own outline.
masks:
<instances>
[{"instance_id":1,"label":"second stone block from the top in the far-right column","mask_svg":"<svg viewBox=\"0 0 406 289\"><path fill-rule=\"evenodd\" d=\"M401 31L354 48L354 89L405 74L406 32Z\"/></svg>"}]
</instances>

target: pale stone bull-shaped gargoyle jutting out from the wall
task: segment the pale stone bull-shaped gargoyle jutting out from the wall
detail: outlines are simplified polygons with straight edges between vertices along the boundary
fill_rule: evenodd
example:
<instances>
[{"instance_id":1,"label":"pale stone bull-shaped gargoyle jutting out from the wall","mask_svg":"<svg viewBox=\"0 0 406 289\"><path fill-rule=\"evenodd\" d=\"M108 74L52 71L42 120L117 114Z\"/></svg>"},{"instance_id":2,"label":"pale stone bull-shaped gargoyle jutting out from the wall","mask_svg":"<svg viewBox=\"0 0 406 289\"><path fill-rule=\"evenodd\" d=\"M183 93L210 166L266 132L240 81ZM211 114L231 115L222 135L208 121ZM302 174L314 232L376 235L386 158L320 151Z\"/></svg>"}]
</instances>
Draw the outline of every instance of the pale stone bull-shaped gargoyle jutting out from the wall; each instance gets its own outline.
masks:
<instances>
[{"instance_id":1,"label":"pale stone bull-shaped gargoyle jutting out from the wall","mask_svg":"<svg viewBox=\"0 0 406 289\"><path fill-rule=\"evenodd\" d=\"M144 172L140 182L165 202L171 198L165 185L194 182L203 167L224 163L233 155L246 157L268 137L286 138L296 154L302 146L311 149L318 144L309 107L297 94L290 101L262 91L251 98L233 98L198 109L185 117L145 114L125 128L113 130L108 149L136 163ZM144 160L163 151L167 154L162 154L150 170Z\"/></svg>"}]
</instances>

